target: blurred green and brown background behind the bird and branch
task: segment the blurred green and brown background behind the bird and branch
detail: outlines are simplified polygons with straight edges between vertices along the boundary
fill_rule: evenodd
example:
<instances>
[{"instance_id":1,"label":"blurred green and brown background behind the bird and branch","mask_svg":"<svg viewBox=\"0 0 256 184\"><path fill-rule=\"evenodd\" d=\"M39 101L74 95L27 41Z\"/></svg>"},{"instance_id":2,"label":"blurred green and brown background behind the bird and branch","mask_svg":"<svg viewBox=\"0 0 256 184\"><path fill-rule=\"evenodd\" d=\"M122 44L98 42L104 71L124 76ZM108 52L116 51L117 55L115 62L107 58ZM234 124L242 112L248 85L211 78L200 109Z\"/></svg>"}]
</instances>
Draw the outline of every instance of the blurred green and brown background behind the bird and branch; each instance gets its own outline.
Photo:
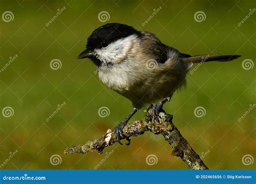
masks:
<instances>
[{"instance_id":1,"label":"blurred green and brown background behind the bird and branch","mask_svg":"<svg viewBox=\"0 0 256 184\"><path fill-rule=\"evenodd\" d=\"M66 9L46 26L63 6ZM132 109L129 100L103 86L90 60L76 59L91 32L111 22L153 32L183 53L242 55L232 62L205 63L188 73L186 90L174 94L164 109L174 115L173 123L209 168L255 168L255 162L242 162L244 155L251 155L249 160L256 157L255 109L238 121L255 103L255 67L246 70L242 61L255 61L256 12L238 26L253 8L253 0L1 1L1 15L11 11L14 19L0 19L0 68L18 55L0 73L0 110L14 109L11 117L0 114L0 165L10 152L18 151L2 169L94 169L99 163L98 169L188 168L171 156L172 148L162 136L149 132L132 137L130 146L107 147L105 152L112 154L105 161L106 153L63 154L68 146L102 136ZM98 19L102 11L109 13L106 22ZM194 19L198 11L205 13L202 22ZM62 67L51 69L53 59ZM109 108L109 116L100 117L100 107ZM205 108L205 116L194 115L197 107ZM131 121L141 119L143 110ZM62 159L58 165L50 162L55 154ZM146 163L150 154L158 159L152 166Z\"/></svg>"}]
</instances>

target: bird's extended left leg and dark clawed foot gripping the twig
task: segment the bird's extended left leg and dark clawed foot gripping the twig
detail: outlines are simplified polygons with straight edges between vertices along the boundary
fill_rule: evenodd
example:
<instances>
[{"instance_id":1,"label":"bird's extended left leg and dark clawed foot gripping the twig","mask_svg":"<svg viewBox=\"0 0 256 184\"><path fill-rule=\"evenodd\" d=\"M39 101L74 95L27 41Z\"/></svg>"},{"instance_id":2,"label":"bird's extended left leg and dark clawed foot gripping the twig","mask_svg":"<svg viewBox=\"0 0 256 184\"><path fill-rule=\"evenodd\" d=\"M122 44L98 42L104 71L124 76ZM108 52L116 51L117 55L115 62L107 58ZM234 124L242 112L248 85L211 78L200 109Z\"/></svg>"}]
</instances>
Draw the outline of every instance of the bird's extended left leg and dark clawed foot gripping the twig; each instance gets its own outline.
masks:
<instances>
[{"instance_id":1,"label":"bird's extended left leg and dark clawed foot gripping the twig","mask_svg":"<svg viewBox=\"0 0 256 184\"><path fill-rule=\"evenodd\" d=\"M114 133L116 134L117 137L117 141L119 144L123 145L120 141L121 139L121 135L123 135L123 128L124 126L127 124L127 122L131 119L131 117L138 111L137 108L133 108L132 112L130 115L128 115L120 124L117 125L116 128L114 128ZM128 143L126 143L126 145L130 145L131 143L131 137L126 137L126 140L128 141Z\"/></svg>"}]
</instances>

